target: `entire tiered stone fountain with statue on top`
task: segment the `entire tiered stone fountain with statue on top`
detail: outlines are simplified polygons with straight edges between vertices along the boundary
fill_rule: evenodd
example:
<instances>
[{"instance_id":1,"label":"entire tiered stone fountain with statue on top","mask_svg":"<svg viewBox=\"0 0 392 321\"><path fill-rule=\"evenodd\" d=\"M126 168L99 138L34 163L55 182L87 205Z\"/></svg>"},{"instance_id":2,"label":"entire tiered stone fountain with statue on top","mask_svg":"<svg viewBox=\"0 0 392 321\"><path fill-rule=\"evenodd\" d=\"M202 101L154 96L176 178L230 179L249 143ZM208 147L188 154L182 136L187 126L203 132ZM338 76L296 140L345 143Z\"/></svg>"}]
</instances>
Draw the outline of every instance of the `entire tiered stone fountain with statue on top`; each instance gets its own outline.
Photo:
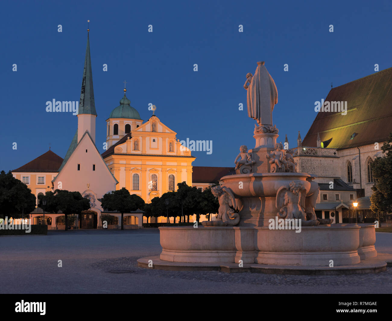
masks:
<instances>
[{"instance_id":1,"label":"entire tiered stone fountain with statue on top","mask_svg":"<svg viewBox=\"0 0 392 321\"><path fill-rule=\"evenodd\" d=\"M349 274L385 270L392 255L378 254L374 225L331 224L314 211L317 176L298 173L293 151L277 143L272 111L276 85L264 62L247 74L248 116L256 145L235 159L235 175L212 188L216 221L198 227L160 227L160 256L139 266L168 270L223 270L287 274Z\"/></svg>"}]
</instances>

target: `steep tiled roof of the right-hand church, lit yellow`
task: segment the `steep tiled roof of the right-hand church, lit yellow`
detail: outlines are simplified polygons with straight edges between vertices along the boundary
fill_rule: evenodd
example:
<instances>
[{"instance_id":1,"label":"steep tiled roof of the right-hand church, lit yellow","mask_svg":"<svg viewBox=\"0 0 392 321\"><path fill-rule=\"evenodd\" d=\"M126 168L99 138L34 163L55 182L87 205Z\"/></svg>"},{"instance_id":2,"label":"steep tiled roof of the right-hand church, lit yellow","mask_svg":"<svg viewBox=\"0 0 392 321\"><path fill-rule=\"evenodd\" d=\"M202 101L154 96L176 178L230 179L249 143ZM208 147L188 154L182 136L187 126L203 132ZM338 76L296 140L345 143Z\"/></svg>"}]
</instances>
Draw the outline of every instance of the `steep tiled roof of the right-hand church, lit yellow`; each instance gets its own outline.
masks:
<instances>
[{"instance_id":1,"label":"steep tiled roof of the right-hand church, lit yellow","mask_svg":"<svg viewBox=\"0 0 392 321\"><path fill-rule=\"evenodd\" d=\"M318 133L336 149L385 141L392 132L392 68L332 88L325 101L347 102L347 114L318 112L303 146L316 147Z\"/></svg>"}]
</instances>

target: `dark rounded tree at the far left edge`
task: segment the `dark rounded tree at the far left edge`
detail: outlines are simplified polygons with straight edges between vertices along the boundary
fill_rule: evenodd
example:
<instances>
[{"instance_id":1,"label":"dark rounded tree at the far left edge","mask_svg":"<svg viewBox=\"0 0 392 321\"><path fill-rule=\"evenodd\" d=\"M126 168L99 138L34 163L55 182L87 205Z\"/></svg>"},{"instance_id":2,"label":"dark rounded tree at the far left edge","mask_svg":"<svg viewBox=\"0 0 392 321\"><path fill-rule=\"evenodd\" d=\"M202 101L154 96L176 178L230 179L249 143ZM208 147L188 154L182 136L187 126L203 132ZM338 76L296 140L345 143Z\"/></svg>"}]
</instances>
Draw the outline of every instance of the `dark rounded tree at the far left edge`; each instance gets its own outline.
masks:
<instances>
[{"instance_id":1,"label":"dark rounded tree at the far left edge","mask_svg":"<svg viewBox=\"0 0 392 321\"><path fill-rule=\"evenodd\" d=\"M11 171L7 174L4 170L0 172L0 210L3 219L5 216L21 218L22 214L28 217L28 214L35 209L35 201L31 189L17 180Z\"/></svg>"}]
</instances>

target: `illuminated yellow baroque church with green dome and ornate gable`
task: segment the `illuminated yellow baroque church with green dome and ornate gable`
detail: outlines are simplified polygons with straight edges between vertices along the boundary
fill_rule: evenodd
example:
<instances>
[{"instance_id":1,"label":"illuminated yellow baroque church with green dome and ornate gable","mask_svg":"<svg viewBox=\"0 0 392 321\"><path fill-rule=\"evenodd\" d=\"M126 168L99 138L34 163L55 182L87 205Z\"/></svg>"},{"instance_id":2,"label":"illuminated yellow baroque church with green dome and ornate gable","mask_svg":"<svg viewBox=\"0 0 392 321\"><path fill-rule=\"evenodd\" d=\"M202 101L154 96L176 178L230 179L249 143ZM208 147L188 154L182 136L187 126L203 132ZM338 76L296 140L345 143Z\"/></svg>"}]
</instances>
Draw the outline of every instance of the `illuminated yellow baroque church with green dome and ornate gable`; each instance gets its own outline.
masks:
<instances>
[{"instance_id":1,"label":"illuminated yellow baroque church with green dome and ornate gable","mask_svg":"<svg viewBox=\"0 0 392 321\"><path fill-rule=\"evenodd\" d=\"M151 203L154 197L177 190L177 183L185 181L192 186L192 161L196 158L191 151L156 115L143 123L130 104L124 93L120 106L106 121L108 149L102 157L119 182L116 189L125 187Z\"/></svg>"}]
</instances>

